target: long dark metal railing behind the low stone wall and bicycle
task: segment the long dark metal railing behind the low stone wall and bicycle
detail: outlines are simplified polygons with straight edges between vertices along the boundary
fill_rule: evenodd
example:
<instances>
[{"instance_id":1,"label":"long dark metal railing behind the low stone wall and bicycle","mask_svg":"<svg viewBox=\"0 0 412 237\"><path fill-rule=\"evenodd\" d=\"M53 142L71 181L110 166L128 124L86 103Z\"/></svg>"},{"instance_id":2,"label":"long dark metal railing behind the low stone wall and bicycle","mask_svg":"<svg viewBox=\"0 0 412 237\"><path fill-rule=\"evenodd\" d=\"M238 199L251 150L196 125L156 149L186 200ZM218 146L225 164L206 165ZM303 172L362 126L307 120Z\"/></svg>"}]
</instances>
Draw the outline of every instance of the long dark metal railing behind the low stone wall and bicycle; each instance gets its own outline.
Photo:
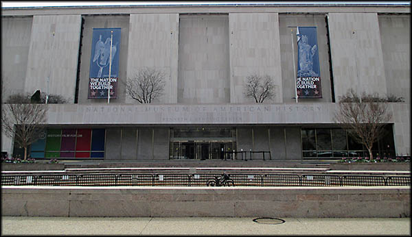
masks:
<instances>
[{"instance_id":1,"label":"long dark metal railing behind the low stone wall and bicycle","mask_svg":"<svg viewBox=\"0 0 412 237\"><path fill-rule=\"evenodd\" d=\"M2 186L206 186L220 173L1 175ZM235 186L410 186L409 176L229 174Z\"/></svg>"}]
</instances>

